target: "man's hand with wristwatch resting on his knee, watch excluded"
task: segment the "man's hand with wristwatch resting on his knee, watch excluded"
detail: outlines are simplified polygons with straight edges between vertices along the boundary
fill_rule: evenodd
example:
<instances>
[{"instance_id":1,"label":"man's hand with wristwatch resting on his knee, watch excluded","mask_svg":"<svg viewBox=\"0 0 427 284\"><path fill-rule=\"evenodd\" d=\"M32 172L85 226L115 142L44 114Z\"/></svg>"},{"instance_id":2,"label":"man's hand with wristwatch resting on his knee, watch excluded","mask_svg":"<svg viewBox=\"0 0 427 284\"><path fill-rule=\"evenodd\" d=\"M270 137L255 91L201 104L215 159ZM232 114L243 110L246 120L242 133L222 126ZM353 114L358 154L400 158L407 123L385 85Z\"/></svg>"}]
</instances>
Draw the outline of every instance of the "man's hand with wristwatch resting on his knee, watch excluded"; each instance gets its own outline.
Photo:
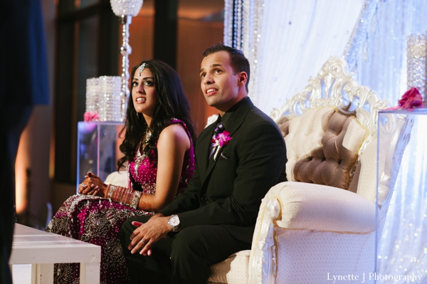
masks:
<instances>
[{"instance_id":1,"label":"man's hand with wristwatch resting on his knee, watch excluded","mask_svg":"<svg viewBox=\"0 0 427 284\"><path fill-rule=\"evenodd\" d=\"M130 253L136 253L141 250L139 254L151 256L152 244L161 238L166 238L167 233L172 231L169 223L167 223L168 220L169 217L164 217L162 214L155 214L147 223L133 221L132 225L138 226L138 228L130 235L131 242L127 247Z\"/></svg>"}]
</instances>

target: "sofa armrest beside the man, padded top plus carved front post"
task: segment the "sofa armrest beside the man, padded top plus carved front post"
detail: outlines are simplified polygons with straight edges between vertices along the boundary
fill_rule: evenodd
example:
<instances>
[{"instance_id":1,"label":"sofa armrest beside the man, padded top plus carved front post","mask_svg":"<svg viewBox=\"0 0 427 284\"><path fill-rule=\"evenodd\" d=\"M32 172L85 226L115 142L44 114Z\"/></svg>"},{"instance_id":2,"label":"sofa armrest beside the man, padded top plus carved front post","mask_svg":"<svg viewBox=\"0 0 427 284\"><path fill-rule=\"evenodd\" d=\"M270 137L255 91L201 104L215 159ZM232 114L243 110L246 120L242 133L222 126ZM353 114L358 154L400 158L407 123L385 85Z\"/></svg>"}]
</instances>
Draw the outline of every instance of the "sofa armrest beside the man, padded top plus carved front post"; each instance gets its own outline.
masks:
<instances>
[{"instance_id":1,"label":"sofa armrest beside the man, padded top plus carved front post","mask_svg":"<svg viewBox=\"0 0 427 284\"><path fill-rule=\"evenodd\" d=\"M249 258L249 283L273 283L276 272L274 227L290 230L371 233L376 204L332 186L283 182L260 206Z\"/></svg>"}]
</instances>

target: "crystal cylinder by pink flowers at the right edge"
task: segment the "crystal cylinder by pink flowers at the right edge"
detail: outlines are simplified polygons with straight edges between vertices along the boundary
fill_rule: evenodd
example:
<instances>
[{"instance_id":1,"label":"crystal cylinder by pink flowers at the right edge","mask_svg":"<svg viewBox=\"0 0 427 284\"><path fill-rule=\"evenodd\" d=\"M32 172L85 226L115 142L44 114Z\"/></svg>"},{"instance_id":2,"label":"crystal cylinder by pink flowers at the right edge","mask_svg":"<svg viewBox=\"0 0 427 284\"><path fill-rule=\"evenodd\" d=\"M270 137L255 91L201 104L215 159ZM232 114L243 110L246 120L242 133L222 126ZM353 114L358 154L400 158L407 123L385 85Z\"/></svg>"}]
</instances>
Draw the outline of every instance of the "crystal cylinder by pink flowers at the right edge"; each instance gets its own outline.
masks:
<instances>
[{"instance_id":1,"label":"crystal cylinder by pink flowers at the right edge","mask_svg":"<svg viewBox=\"0 0 427 284\"><path fill-rule=\"evenodd\" d=\"M407 87L415 87L426 101L427 95L427 35L417 33L407 38Z\"/></svg>"}]
</instances>

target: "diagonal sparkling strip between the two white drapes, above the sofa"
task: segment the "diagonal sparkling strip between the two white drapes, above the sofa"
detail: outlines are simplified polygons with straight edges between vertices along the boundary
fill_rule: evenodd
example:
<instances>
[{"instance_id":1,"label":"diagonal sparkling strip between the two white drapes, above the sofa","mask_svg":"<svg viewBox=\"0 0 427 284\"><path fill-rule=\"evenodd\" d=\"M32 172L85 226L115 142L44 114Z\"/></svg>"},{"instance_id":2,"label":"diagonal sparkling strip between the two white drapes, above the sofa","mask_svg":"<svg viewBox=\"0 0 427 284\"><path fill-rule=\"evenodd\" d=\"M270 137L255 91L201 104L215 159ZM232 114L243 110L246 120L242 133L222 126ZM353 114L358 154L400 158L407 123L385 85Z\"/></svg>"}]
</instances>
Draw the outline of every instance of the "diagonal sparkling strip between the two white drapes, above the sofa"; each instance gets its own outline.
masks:
<instances>
[{"instance_id":1,"label":"diagonal sparkling strip between the two white drapes, above the sofa","mask_svg":"<svg viewBox=\"0 0 427 284\"><path fill-rule=\"evenodd\" d=\"M365 0L362 11L360 11L359 19L357 19L356 26L352 31L347 45L345 46L342 57L347 61L349 70L354 70L357 57L359 56L359 49L363 49L362 42L367 38L367 31L369 20L376 8L378 2L376 0Z\"/></svg>"}]
</instances>

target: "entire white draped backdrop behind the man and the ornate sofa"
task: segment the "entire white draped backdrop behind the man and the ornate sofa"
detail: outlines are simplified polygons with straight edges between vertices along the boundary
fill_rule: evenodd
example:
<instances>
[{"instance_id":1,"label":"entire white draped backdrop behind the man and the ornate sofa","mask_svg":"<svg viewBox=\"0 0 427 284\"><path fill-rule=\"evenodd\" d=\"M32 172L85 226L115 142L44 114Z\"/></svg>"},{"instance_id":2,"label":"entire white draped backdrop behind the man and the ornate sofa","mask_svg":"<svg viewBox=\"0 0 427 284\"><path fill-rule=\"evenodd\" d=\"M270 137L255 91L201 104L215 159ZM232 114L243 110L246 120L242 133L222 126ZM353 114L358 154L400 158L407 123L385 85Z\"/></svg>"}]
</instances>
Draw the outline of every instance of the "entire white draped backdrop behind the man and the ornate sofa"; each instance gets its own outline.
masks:
<instances>
[{"instance_id":1,"label":"entire white draped backdrop behind the man and the ornate sofa","mask_svg":"<svg viewBox=\"0 0 427 284\"><path fill-rule=\"evenodd\" d=\"M224 43L249 58L249 95L267 114L305 88L330 56L343 56L359 83L396 105L406 91L406 37L427 30L427 0L226 0L225 4ZM421 143L406 151L426 147ZM427 228L423 177L427 166L422 159L421 163L402 161L376 272L416 273L424 283L427 238L414 233L415 227ZM420 179L408 181L405 173L414 171L420 172Z\"/></svg>"}]
</instances>

